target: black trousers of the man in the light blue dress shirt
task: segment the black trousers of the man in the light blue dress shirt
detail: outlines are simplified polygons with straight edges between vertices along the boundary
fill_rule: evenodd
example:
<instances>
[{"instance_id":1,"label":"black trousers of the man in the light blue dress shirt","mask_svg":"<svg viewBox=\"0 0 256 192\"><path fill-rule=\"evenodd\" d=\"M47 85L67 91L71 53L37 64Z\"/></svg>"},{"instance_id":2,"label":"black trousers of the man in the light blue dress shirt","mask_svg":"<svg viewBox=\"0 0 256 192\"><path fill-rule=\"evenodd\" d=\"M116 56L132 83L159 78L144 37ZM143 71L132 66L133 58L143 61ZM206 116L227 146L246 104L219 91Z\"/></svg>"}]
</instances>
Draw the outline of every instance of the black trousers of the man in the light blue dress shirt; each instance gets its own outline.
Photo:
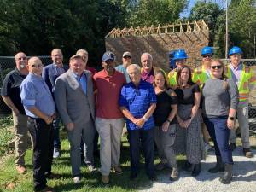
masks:
<instances>
[{"instance_id":1,"label":"black trousers of the man in the light blue dress shirt","mask_svg":"<svg viewBox=\"0 0 256 192\"><path fill-rule=\"evenodd\" d=\"M31 119L33 139L33 181L34 190L44 189L46 186L45 174L51 173L51 164L54 150L54 129L52 124L47 125L43 119Z\"/></svg>"}]
</instances>

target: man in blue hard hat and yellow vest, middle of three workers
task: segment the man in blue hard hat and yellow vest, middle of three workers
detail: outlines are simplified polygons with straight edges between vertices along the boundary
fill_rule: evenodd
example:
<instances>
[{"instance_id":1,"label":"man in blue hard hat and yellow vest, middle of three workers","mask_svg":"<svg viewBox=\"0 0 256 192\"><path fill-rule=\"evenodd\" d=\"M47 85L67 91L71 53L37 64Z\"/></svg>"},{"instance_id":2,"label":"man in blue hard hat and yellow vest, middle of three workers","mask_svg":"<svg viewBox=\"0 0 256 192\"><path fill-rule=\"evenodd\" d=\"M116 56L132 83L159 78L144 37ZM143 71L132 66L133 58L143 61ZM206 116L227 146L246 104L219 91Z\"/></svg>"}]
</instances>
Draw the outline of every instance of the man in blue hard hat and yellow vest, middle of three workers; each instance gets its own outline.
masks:
<instances>
[{"instance_id":1,"label":"man in blue hard hat and yellow vest, middle of three workers","mask_svg":"<svg viewBox=\"0 0 256 192\"><path fill-rule=\"evenodd\" d=\"M212 47L206 46L201 49L202 65L195 68L195 71L192 77L192 81L195 84L200 85L200 88L207 81L207 79L210 79L211 77L210 63L212 61L212 55L213 55ZM202 127L204 142L205 142L205 149L206 151L208 151L209 149L212 148L211 145L209 144L209 133L207 131L207 127L204 124L202 124L201 127Z\"/></svg>"}]
</instances>

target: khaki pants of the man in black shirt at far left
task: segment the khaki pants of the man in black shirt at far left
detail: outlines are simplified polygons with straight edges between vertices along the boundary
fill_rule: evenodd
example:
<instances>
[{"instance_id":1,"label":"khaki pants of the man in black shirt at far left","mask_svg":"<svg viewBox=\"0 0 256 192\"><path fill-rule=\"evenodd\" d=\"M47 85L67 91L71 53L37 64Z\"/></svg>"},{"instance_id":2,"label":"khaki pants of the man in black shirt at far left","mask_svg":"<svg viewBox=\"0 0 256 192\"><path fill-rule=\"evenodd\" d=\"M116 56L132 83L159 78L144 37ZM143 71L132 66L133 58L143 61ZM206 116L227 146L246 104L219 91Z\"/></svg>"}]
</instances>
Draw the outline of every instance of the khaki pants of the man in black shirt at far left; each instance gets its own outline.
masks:
<instances>
[{"instance_id":1,"label":"khaki pants of the man in black shirt at far left","mask_svg":"<svg viewBox=\"0 0 256 192\"><path fill-rule=\"evenodd\" d=\"M25 154L27 147L27 117L24 114L13 113L15 127L15 164L25 166Z\"/></svg>"}]
</instances>

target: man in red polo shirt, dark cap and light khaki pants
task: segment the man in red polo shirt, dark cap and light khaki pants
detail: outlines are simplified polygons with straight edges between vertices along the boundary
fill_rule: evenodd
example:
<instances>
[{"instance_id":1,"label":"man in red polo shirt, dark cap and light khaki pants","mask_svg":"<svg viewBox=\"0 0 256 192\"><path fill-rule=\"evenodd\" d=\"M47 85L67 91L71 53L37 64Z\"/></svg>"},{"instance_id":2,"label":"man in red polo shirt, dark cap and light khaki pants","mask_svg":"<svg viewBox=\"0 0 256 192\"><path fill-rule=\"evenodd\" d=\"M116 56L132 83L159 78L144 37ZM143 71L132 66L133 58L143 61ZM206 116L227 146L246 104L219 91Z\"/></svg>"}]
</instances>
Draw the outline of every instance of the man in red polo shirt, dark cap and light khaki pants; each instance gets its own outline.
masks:
<instances>
[{"instance_id":1,"label":"man in red polo shirt, dark cap and light khaki pants","mask_svg":"<svg viewBox=\"0 0 256 192\"><path fill-rule=\"evenodd\" d=\"M120 143L125 125L119 110L119 93L126 84L125 75L114 69L115 56L107 51L102 56L104 69L93 77L96 84L96 130L101 137L102 183L109 183L111 167L122 173L119 166Z\"/></svg>"}]
</instances>

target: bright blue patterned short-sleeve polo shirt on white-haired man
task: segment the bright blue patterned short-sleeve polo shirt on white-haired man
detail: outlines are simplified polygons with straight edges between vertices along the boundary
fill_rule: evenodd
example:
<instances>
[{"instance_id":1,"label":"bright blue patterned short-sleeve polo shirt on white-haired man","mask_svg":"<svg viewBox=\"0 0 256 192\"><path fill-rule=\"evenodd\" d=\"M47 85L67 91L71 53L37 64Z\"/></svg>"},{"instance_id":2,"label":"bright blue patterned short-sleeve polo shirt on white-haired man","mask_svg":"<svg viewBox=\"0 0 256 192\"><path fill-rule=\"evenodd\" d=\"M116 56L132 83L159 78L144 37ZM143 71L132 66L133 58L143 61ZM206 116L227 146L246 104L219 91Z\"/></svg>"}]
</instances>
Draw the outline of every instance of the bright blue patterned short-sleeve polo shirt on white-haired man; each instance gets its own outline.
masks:
<instances>
[{"instance_id":1,"label":"bright blue patterned short-sleeve polo shirt on white-haired man","mask_svg":"<svg viewBox=\"0 0 256 192\"><path fill-rule=\"evenodd\" d=\"M156 96L152 84L141 80L138 87L131 82L123 86L119 98L119 105L127 108L134 118L142 118L152 103L156 103ZM126 126L128 130L138 129L137 125L129 119L126 119ZM143 125L143 129L149 130L153 127L154 118L151 116Z\"/></svg>"}]
</instances>

